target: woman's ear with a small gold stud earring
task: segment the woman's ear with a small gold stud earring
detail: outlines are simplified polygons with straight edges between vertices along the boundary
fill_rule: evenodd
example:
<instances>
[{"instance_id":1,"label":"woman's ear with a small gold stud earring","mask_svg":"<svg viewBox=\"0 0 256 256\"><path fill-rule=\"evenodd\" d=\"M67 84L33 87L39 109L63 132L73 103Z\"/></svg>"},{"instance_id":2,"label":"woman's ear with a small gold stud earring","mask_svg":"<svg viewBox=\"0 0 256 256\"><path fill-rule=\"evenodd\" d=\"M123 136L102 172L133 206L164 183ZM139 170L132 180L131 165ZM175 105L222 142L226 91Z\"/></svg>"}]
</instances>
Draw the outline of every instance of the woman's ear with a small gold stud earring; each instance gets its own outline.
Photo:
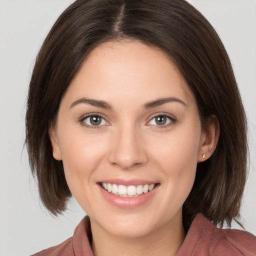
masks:
<instances>
[{"instance_id":1,"label":"woman's ear with a small gold stud earring","mask_svg":"<svg viewBox=\"0 0 256 256\"><path fill-rule=\"evenodd\" d=\"M211 115L206 127L202 131L200 147L197 155L197 162L208 159L214 152L219 138L219 122L215 115Z\"/></svg>"}]
</instances>

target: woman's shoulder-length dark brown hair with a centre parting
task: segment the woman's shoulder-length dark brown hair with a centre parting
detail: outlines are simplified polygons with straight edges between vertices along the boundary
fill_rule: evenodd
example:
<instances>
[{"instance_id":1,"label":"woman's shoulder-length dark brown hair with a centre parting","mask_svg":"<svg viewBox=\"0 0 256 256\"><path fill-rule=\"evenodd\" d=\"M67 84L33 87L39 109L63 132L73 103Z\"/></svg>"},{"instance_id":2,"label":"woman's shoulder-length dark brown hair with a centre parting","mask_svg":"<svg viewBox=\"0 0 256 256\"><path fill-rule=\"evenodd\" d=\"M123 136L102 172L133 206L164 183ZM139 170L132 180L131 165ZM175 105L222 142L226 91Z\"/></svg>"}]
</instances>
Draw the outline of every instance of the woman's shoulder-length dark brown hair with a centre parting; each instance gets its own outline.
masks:
<instances>
[{"instance_id":1,"label":"woman's shoulder-length dark brown hair with a centre parting","mask_svg":"<svg viewBox=\"0 0 256 256\"><path fill-rule=\"evenodd\" d=\"M221 40L185 0L77 0L56 20L36 58L26 112L25 142L41 201L58 214L71 196L48 135L63 94L93 48L126 38L158 47L171 58L195 95L202 127L212 114L219 121L217 147L197 164L183 204L184 226L197 212L214 224L230 224L239 215L246 178L246 117Z\"/></svg>"}]
</instances>

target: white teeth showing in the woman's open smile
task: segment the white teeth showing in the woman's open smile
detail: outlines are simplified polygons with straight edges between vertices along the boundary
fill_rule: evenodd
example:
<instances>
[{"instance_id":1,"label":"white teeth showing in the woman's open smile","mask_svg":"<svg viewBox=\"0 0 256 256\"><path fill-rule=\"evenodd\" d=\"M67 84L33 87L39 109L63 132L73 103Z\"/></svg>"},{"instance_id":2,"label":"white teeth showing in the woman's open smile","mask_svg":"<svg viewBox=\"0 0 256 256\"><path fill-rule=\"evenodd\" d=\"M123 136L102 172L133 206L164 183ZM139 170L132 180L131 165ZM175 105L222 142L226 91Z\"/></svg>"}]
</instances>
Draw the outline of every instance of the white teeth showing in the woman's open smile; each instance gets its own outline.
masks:
<instances>
[{"instance_id":1,"label":"white teeth showing in the woman's open smile","mask_svg":"<svg viewBox=\"0 0 256 256\"><path fill-rule=\"evenodd\" d=\"M122 196L122 197L135 197L142 194L146 194L152 189L155 188L155 186L158 183L155 184L144 184L144 185L117 185L117 184L111 184L111 183L101 183L101 187L104 188L106 191L108 191L111 194Z\"/></svg>"}]
</instances>

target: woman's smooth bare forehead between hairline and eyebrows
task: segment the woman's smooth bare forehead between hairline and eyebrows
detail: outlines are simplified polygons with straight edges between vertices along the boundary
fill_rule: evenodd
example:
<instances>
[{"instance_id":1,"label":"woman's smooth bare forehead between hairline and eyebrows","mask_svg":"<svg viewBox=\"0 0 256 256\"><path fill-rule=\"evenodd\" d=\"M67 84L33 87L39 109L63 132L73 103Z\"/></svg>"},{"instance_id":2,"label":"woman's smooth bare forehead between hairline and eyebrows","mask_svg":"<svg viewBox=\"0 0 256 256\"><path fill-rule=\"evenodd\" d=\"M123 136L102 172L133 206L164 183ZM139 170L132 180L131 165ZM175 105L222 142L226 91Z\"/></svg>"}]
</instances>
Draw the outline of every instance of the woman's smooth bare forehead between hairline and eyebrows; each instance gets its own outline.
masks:
<instances>
[{"instance_id":1,"label":"woman's smooth bare forehead between hairline and eyebrows","mask_svg":"<svg viewBox=\"0 0 256 256\"><path fill-rule=\"evenodd\" d=\"M124 97L136 102L167 96L183 101L193 95L177 67L160 49L138 41L109 41L94 48L81 64L67 94L70 100Z\"/></svg>"}]
</instances>

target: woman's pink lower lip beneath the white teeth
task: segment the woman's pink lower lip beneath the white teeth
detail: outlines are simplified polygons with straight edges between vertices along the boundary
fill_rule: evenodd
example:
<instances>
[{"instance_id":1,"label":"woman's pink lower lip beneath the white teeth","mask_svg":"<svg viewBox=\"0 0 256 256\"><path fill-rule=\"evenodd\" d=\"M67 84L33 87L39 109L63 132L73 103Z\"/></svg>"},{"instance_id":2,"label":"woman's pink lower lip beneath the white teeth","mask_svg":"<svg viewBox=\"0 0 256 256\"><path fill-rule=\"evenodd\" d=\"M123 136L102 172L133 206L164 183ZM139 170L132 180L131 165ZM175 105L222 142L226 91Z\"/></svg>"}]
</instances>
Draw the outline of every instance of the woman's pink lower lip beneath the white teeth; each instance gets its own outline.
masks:
<instances>
[{"instance_id":1,"label":"woman's pink lower lip beneath the white teeth","mask_svg":"<svg viewBox=\"0 0 256 256\"><path fill-rule=\"evenodd\" d=\"M152 196L155 194L159 185L156 184L156 186L151 191L148 191L147 193L143 193L134 197L118 196L118 195L109 193L103 187L101 187L100 184L98 184L98 186L101 194L108 202L110 202L116 207L129 209L129 208L139 207L144 203L146 203L147 201L149 201L152 198Z\"/></svg>"}]
</instances>

